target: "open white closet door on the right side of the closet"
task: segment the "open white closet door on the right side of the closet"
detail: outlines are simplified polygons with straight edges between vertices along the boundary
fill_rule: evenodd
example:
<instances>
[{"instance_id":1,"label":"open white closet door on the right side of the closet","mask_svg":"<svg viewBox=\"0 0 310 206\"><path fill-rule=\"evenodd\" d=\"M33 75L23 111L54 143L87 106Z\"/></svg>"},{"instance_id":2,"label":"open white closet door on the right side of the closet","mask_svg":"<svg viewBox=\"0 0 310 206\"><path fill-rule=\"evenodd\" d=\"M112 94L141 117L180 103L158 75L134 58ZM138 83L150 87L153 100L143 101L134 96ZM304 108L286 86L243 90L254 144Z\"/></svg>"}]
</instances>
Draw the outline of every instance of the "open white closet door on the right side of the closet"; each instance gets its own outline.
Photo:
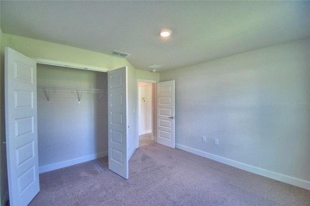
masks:
<instances>
[{"instance_id":1,"label":"open white closet door on the right side of the closet","mask_svg":"<svg viewBox=\"0 0 310 206\"><path fill-rule=\"evenodd\" d=\"M127 67L108 72L109 169L128 179Z\"/></svg>"}]
</instances>

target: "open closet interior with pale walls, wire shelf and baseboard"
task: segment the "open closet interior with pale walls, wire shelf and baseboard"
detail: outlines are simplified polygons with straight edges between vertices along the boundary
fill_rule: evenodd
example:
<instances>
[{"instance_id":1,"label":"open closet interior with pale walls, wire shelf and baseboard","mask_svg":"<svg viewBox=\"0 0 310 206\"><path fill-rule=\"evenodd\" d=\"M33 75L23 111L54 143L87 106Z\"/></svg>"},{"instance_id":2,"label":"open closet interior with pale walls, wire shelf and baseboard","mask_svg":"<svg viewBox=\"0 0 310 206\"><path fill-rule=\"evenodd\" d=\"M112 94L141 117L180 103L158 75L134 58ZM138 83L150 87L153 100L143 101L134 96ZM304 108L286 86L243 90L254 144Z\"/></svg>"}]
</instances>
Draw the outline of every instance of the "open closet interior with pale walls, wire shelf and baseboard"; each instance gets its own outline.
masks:
<instances>
[{"instance_id":1,"label":"open closet interior with pale walls, wire shelf and baseboard","mask_svg":"<svg viewBox=\"0 0 310 206\"><path fill-rule=\"evenodd\" d=\"M105 72L37 64L39 172L108 155Z\"/></svg>"}]
</instances>

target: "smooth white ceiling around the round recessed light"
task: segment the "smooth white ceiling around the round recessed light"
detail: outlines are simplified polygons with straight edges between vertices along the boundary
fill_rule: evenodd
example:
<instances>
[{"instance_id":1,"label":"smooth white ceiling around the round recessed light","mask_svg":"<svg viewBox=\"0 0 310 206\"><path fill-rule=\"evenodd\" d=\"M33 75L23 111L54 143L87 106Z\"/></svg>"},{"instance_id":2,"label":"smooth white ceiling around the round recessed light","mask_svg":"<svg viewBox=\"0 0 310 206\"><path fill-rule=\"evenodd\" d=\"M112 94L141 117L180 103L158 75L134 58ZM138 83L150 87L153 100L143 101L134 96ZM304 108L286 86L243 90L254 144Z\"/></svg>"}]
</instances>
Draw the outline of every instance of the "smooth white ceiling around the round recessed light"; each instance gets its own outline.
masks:
<instances>
[{"instance_id":1,"label":"smooth white ceiling around the round recessed light","mask_svg":"<svg viewBox=\"0 0 310 206\"><path fill-rule=\"evenodd\" d=\"M310 36L310 1L5 1L1 29L157 72ZM171 29L169 39L158 32Z\"/></svg>"}]
</instances>

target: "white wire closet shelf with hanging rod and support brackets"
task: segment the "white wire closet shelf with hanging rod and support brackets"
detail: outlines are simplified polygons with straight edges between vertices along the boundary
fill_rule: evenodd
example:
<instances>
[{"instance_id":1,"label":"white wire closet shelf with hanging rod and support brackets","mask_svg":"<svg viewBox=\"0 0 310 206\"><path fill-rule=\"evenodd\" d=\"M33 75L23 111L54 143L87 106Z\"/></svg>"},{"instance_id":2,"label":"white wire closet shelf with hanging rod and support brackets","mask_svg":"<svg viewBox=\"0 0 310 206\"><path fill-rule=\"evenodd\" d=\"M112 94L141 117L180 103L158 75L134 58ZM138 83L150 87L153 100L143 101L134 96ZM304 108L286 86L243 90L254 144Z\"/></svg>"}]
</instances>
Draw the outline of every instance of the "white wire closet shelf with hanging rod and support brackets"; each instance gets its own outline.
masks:
<instances>
[{"instance_id":1,"label":"white wire closet shelf with hanging rod and support brackets","mask_svg":"<svg viewBox=\"0 0 310 206\"><path fill-rule=\"evenodd\" d=\"M72 87L48 87L48 86L37 86L37 90L48 91L47 102L49 102L50 91L74 91L80 92L78 95L78 103L80 103L81 96L83 92L101 93L99 97L99 102L101 100L102 93L108 93L107 89L100 88L72 88Z\"/></svg>"}]
</instances>

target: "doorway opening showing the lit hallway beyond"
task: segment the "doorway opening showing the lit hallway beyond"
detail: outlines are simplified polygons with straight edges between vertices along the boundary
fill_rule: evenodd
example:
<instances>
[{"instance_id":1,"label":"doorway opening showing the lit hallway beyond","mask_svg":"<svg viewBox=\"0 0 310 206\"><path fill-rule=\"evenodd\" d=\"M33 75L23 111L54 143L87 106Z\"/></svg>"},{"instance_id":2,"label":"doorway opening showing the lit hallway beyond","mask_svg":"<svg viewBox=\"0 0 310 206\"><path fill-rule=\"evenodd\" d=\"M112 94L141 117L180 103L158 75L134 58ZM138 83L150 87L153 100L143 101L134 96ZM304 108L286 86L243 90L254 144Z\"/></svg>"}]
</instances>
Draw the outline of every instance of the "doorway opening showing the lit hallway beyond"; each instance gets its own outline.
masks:
<instances>
[{"instance_id":1,"label":"doorway opening showing the lit hallway beyond","mask_svg":"<svg viewBox=\"0 0 310 206\"><path fill-rule=\"evenodd\" d=\"M138 144L144 147L156 143L156 84L138 80Z\"/></svg>"}]
</instances>

